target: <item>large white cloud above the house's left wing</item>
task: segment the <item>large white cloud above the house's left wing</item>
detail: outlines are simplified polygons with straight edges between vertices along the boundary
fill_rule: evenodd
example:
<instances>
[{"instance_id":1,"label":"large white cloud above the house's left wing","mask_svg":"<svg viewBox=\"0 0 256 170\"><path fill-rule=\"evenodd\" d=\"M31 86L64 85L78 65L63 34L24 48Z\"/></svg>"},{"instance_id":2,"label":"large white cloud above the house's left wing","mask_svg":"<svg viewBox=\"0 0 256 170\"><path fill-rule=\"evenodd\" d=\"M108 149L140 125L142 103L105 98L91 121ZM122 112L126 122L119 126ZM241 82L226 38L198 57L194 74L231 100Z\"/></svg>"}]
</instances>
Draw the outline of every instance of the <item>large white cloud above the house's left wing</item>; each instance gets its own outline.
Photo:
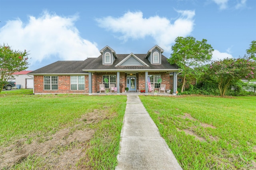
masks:
<instances>
[{"instance_id":1,"label":"large white cloud above the house's left wing","mask_svg":"<svg viewBox=\"0 0 256 170\"><path fill-rule=\"evenodd\" d=\"M79 36L74 26L78 16L64 18L44 12L40 17L29 16L28 23L21 20L8 21L0 29L1 44L12 49L29 51L31 64L57 56L61 60L85 60L98 57L100 52L96 43Z\"/></svg>"}]
</instances>

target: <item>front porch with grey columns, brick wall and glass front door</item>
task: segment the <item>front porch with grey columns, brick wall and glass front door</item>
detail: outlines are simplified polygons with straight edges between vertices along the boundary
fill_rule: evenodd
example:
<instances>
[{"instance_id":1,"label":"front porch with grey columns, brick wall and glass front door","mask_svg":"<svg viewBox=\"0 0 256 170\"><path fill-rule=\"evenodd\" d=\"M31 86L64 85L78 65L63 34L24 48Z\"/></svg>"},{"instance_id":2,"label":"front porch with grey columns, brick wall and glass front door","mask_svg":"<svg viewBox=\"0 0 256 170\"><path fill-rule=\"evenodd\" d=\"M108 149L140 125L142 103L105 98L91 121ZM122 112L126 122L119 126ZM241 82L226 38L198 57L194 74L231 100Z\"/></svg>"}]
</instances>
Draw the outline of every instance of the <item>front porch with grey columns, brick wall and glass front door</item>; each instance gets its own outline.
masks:
<instances>
[{"instance_id":1,"label":"front porch with grey columns, brick wall and glass front door","mask_svg":"<svg viewBox=\"0 0 256 170\"><path fill-rule=\"evenodd\" d=\"M104 78L108 78L105 82ZM148 90L148 78L150 78L151 87L159 92L160 84L166 85L166 90L170 90L170 94L176 95L177 91L177 72L89 72L88 74L88 92L89 95L97 94L100 90L100 84L104 84L109 89L110 84L114 84L117 88L116 94L124 94L126 92L134 92L140 94L140 90L145 90L145 95L153 94ZM158 82L158 78L162 82ZM166 93L166 91L165 91ZM110 93L109 93L110 94ZM159 93L158 93L159 94Z\"/></svg>"}]
</instances>

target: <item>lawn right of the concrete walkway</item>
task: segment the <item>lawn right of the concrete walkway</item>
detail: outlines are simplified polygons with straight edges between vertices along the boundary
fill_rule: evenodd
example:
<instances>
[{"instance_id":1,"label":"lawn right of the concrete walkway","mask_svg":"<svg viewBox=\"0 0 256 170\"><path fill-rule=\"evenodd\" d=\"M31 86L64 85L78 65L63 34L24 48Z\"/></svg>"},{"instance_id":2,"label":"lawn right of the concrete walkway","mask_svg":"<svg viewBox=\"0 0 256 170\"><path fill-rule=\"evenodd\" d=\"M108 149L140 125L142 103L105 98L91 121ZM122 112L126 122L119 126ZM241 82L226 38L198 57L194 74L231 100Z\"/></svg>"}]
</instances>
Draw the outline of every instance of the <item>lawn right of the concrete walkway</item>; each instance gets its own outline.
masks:
<instances>
[{"instance_id":1,"label":"lawn right of the concrete walkway","mask_svg":"<svg viewBox=\"0 0 256 170\"><path fill-rule=\"evenodd\" d=\"M256 97L140 96L184 170L256 168Z\"/></svg>"}]
</instances>

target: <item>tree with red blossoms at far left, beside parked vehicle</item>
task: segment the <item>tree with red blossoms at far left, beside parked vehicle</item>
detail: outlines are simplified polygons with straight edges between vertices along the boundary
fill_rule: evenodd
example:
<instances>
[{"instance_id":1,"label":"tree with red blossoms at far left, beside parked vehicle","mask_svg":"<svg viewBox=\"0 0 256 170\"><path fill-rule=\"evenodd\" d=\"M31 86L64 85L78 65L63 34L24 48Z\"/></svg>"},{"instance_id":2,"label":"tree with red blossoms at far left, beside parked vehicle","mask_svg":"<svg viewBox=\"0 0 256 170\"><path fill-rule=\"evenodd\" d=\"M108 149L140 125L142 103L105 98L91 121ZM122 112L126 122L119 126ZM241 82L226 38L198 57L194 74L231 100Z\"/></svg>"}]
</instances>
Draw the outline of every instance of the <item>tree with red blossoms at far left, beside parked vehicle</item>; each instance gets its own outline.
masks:
<instances>
[{"instance_id":1,"label":"tree with red blossoms at far left, beside parked vehicle","mask_svg":"<svg viewBox=\"0 0 256 170\"><path fill-rule=\"evenodd\" d=\"M0 92L4 84L13 79L13 73L28 68L28 53L26 50L12 50L8 45L0 45Z\"/></svg>"}]
</instances>

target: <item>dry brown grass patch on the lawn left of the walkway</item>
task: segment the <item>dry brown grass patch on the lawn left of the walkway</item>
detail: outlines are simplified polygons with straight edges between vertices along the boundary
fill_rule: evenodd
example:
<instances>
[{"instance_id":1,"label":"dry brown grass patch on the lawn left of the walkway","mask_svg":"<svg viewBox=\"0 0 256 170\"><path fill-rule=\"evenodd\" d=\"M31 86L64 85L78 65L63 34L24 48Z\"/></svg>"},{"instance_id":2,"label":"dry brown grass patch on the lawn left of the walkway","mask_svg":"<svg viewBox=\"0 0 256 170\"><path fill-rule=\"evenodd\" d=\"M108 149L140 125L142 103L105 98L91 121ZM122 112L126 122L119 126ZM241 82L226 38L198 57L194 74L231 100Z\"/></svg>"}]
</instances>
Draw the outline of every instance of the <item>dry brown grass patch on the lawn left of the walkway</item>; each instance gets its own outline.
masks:
<instances>
[{"instance_id":1,"label":"dry brown grass patch on the lawn left of the walkway","mask_svg":"<svg viewBox=\"0 0 256 170\"><path fill-rule=\"evenodd\" d=\"M85 156L84 151L88 148L88 141L95 133L94 129L84 128L82 125L106 119L104 112L103 114L92 112L82 117L85 118L80 119L80 124L76 125L76 129L82 128L81 130L74 131L73 127L68 127L44 139L35 138L30 144L26 143L27 138L22 138L9 147L1 147L0 169L9 169L32 155L43 158L44 166L41 169L49 167L62 170L76 169L77 162Z\"/></svg>"}]
</instances>

